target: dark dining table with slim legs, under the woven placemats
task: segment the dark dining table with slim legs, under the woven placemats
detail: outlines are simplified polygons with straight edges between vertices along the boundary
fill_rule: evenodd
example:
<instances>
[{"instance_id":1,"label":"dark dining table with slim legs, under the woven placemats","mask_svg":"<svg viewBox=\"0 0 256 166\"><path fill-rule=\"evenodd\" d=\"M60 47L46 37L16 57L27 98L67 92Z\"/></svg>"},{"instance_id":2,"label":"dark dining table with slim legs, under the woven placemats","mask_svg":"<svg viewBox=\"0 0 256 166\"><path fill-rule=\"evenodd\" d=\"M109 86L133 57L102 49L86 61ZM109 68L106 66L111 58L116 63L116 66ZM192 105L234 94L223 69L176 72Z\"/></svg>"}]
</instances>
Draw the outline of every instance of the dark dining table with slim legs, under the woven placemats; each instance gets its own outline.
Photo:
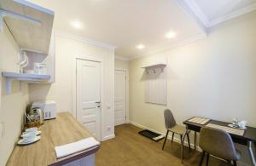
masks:
<instances>
[{"instance_id":1,"label":"dark dining table with slim legs, under the woven placemats","mask_svg":"<svg viewBox=\"0 0 256 166\"><path fill-rule=\"evenodd\" d=\"M189 132L189 130L195 131L195 143L196 143L196 132L200 132L201 128L207 125L207 123L204 125L198 124L198 123L191 123L191 122L189 122L189 119L184 121L183 123L186 125L185 134L187 134L187 132ZM221 121L217 121L217 120L210 120L208 123L218 124L218 125L222 125L222 126L228 126L228 124L229 124L229 123L225 123L225 122L221 122ZM241 136L241 135L230 134L230 136L234 142L248 147L248 151L249 151L253 166L256 166L255 157L253 155L253 142L254 143L256 142L256 128L247 127L244 135ZM184 139L185 139L185 137L183 136L182 141L184 141ZM195 148L196 148L196 146L195 146ZM182 147L181 147L181 157L182 157L182 162L183 162L183 142L182 142Z\"/></svg>"}]
</instances>

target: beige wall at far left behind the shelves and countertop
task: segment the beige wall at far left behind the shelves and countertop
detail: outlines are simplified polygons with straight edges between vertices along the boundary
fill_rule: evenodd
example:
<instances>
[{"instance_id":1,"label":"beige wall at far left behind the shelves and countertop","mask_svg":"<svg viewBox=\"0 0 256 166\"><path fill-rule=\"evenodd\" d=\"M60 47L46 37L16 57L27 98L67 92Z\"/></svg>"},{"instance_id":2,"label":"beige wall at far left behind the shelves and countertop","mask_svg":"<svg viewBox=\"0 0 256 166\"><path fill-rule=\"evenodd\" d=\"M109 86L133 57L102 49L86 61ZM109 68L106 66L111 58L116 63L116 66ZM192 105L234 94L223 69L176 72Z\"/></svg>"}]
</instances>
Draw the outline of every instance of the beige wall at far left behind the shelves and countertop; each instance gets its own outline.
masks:
<instances>
[{"instance_id":1,"label":"beige wall at far left behind the shelves and countertop","mask_svg":"<svg viewBox=\"0 0 256 166\"><path fill-rule=\"evenodd\" d=\"M6 26L0 31L0 72L19 72L19 48ZM4 43L4 44L3 44ZM0 134L0 166L5 165L15 142L20 136L23 113L28 101L26 83L12 83L12 93L6 94L5 78L0 77L0 123L3 124L3 136Z\"/></svg>"}]
</instances>

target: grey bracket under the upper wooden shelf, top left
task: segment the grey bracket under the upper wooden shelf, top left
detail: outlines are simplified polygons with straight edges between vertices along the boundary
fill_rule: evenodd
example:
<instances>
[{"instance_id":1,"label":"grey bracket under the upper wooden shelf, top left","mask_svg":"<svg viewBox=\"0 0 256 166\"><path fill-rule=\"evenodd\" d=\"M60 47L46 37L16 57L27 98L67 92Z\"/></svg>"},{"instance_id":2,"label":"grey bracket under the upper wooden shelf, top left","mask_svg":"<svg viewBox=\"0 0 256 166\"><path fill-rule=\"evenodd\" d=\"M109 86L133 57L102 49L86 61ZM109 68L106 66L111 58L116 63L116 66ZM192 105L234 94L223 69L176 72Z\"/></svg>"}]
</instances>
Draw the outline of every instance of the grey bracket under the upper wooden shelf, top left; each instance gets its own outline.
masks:
<instances>
[{"instance_id":1,"label":"grey bracket under the upper wooden shelf, top left","mask_svg":"<svg viewBox=\"0 0 256 166\"><path fill-rule=\"evenodd\" d=\"M17 19L17 20L24 20L29 22L35 26L41 26L42 23L39 20L32 19L31 17L27 17L26 15L15 14L14 12L10 12L4 9L0 9L0 31L3 31L3 19L5 17Z\"/></svg>"}]
</instances>

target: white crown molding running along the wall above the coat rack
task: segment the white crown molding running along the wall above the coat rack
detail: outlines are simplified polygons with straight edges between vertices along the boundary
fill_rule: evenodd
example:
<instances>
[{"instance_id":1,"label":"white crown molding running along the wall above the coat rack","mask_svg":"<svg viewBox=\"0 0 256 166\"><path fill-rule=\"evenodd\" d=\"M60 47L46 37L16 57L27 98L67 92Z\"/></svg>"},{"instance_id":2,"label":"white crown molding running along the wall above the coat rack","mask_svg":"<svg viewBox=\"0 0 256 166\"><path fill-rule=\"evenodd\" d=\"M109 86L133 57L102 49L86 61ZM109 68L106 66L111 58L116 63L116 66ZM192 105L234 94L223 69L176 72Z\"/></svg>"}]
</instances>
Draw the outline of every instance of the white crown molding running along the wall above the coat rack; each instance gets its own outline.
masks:
<instances>
[{"instance_id":1,"label":"white crown molding running along the wall above the coat rack","mask_svg":"<svg viewBox=\"0 0 256 166\"><path fill-rule=\"evenodd\" d=\"M206 33L197 35L195 37L189 37L189 38L187 38L185 40L182 40L182 41L180 41L178 43L174 43L174 44L170 45L170 47L168 47L166 49L160 49L160 50L154 51L154 52L152 52L150 54L137 55L137 56L131 57L129 60L136 60L136 59L139 59L139 58L142 58L142 57L145 57L145 56L149 56L149 55L153 55L153 54L157 54L157 53L166 51L168 49L174 49L174 48L177 48L177 47L189 44L189 43L193 43L195 41L201 40L201 39L206 38L206 37L207 37Z\"/></svg>"}]
</instances>

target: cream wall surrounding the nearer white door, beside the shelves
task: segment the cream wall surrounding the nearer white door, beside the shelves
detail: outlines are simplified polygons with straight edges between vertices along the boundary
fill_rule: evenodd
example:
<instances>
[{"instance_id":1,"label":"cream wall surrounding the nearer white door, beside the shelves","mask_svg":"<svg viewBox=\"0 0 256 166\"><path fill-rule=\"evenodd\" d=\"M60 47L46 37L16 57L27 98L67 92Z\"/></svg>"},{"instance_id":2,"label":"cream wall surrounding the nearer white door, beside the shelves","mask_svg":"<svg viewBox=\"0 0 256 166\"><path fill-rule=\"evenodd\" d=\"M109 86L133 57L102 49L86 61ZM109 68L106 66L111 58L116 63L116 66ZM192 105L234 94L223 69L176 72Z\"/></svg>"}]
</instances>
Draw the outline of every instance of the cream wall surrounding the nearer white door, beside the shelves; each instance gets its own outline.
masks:
<instances>
[{"instance_id":1,"label":"cream wall surrounding the nearer white door, beside the shelves","mask_svg":"<svg viewBox=\"0 0 256 166\"><path fill-rule=\"evenodd\" d=\"M55 35L55 83L30 85L30 101L55 100L57 112L75 112L75 59L102 60L102 140L113 137L113 71L114 52L86 43L73 36L57 32ZM108 131L108 127L110 130Z\"/></svg>"}]
</instances>

